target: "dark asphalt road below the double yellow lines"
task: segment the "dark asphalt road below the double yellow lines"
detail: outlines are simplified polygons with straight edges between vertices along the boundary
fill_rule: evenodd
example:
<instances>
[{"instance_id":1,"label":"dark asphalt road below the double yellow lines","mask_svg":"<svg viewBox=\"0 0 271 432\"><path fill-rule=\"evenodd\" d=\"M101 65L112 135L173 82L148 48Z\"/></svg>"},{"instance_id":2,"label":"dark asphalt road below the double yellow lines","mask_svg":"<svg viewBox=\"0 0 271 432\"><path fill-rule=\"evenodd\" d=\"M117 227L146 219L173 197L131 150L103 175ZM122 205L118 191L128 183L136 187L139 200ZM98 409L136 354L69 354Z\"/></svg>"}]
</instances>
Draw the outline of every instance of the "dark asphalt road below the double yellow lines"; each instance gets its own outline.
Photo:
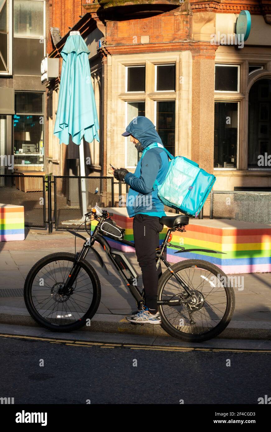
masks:
<instances>
[{"instance_id":1,"label":"dark asphalt road below the double yellow lines","mask_svg":"<svg viewBox=\"0 0 271 432\"><path fill-rule=\"evenodd\" d=\"M0 337L0 397L26 404L258 404L271 397L271 353L99 345Z\"/></svg>"}]
</instances>

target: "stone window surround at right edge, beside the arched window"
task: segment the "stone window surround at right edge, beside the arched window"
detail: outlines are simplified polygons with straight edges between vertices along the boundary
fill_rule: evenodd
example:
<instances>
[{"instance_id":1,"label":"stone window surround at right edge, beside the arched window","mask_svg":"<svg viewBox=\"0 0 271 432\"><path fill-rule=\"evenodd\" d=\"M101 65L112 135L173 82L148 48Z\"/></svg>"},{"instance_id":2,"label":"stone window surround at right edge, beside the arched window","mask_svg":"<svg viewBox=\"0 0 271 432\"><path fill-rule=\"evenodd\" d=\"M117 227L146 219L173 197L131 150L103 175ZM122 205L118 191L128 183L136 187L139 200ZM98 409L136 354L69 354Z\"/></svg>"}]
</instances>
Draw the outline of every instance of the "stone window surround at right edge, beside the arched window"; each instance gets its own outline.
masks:
<instances>
[{"instance_id":1,"label":"stone window surround at right edge, beside the arched window","mask_svg":"<svg viewBox=\"0 0 271 432\"><path fill-rule=\"evenodd\" d=\"M214 168L217 175L234 175L239 172L242 175L261 175L270 176L270 168L248 168L248 109L249 109L249 90L252 85L262 78L271 79L271 60L268 54L255 54L253 52L238 53L216 53L215 64L233 64L240 66L239 72L239 93L237 92L215 92L215 102L238 102L238 139L237 139L237 168ZM255 71L249 76L249 64L263 65L264 69ZM237 174L238 175L238 174Z\"/></svg>"}]
</instances>

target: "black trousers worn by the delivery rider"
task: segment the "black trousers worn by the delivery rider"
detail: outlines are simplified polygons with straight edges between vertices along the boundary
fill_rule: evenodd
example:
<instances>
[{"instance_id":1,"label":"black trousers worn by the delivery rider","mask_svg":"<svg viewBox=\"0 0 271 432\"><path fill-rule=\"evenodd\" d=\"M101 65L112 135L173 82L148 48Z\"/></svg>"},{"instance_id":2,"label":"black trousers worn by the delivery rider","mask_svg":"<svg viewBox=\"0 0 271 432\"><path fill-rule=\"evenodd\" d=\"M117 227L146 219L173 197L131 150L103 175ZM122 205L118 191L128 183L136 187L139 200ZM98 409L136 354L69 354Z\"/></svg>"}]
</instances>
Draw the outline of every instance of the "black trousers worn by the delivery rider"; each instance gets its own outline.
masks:
<instances>
[{"instance_id":1,"label":"black trousers worn by the delivery rider","mask_svg":"<svg viewBox=\"0 0 271 432\"><path fill-rule=\"evenodd\" d=\"M145 305L152 309L152 313L157 311L158 279L162 274L161 265L156 269L156 248L159 247L159 232L162 229L159 217L142 213L134 216L134 246L142 271Z\"/></svg>"}]
</instances>

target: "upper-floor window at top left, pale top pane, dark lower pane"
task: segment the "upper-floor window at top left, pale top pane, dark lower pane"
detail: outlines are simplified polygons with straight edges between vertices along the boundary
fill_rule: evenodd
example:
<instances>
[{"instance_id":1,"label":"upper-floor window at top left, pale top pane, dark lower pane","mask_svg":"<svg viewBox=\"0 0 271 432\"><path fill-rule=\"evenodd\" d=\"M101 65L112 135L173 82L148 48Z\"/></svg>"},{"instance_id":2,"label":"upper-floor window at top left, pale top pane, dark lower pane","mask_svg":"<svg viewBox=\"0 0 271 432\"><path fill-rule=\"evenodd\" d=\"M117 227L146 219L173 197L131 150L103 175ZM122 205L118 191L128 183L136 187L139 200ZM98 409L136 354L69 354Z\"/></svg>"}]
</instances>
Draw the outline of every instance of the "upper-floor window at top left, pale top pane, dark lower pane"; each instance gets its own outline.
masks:
<instances>
[{"instance_id":1,"label":"upper-floor window at top left, pale top pane, dark lower pane","mask_svg":"<svg viewBox=\"0 0 271 432\"><path fill-rule=\"evenodd\" d=\"M14 73L41 74L45 55L44 1L14 0Z\"/></svg>"}]
</instances>

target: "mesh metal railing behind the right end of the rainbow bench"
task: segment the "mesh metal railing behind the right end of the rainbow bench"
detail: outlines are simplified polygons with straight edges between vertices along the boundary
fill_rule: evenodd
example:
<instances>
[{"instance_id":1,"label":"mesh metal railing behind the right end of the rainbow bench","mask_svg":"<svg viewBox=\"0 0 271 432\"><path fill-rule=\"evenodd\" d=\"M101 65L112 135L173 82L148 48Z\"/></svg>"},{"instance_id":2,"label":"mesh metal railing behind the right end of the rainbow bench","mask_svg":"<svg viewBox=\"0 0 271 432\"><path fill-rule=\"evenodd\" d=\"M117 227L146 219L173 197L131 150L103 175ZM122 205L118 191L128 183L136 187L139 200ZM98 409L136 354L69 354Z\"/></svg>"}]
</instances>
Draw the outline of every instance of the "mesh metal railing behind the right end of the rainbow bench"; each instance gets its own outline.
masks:
<instances>
[{"instance_id":1,"label":"mesh metal railing behind the right end of the rainbow bench","mask_svg":"<svg viewBox=\"0 0 271 432\"><path fill-rule=\"evenodd\" d=\"M271 224L271 192L211 191L210 219Z\"/></svg>"}]
</instances>

